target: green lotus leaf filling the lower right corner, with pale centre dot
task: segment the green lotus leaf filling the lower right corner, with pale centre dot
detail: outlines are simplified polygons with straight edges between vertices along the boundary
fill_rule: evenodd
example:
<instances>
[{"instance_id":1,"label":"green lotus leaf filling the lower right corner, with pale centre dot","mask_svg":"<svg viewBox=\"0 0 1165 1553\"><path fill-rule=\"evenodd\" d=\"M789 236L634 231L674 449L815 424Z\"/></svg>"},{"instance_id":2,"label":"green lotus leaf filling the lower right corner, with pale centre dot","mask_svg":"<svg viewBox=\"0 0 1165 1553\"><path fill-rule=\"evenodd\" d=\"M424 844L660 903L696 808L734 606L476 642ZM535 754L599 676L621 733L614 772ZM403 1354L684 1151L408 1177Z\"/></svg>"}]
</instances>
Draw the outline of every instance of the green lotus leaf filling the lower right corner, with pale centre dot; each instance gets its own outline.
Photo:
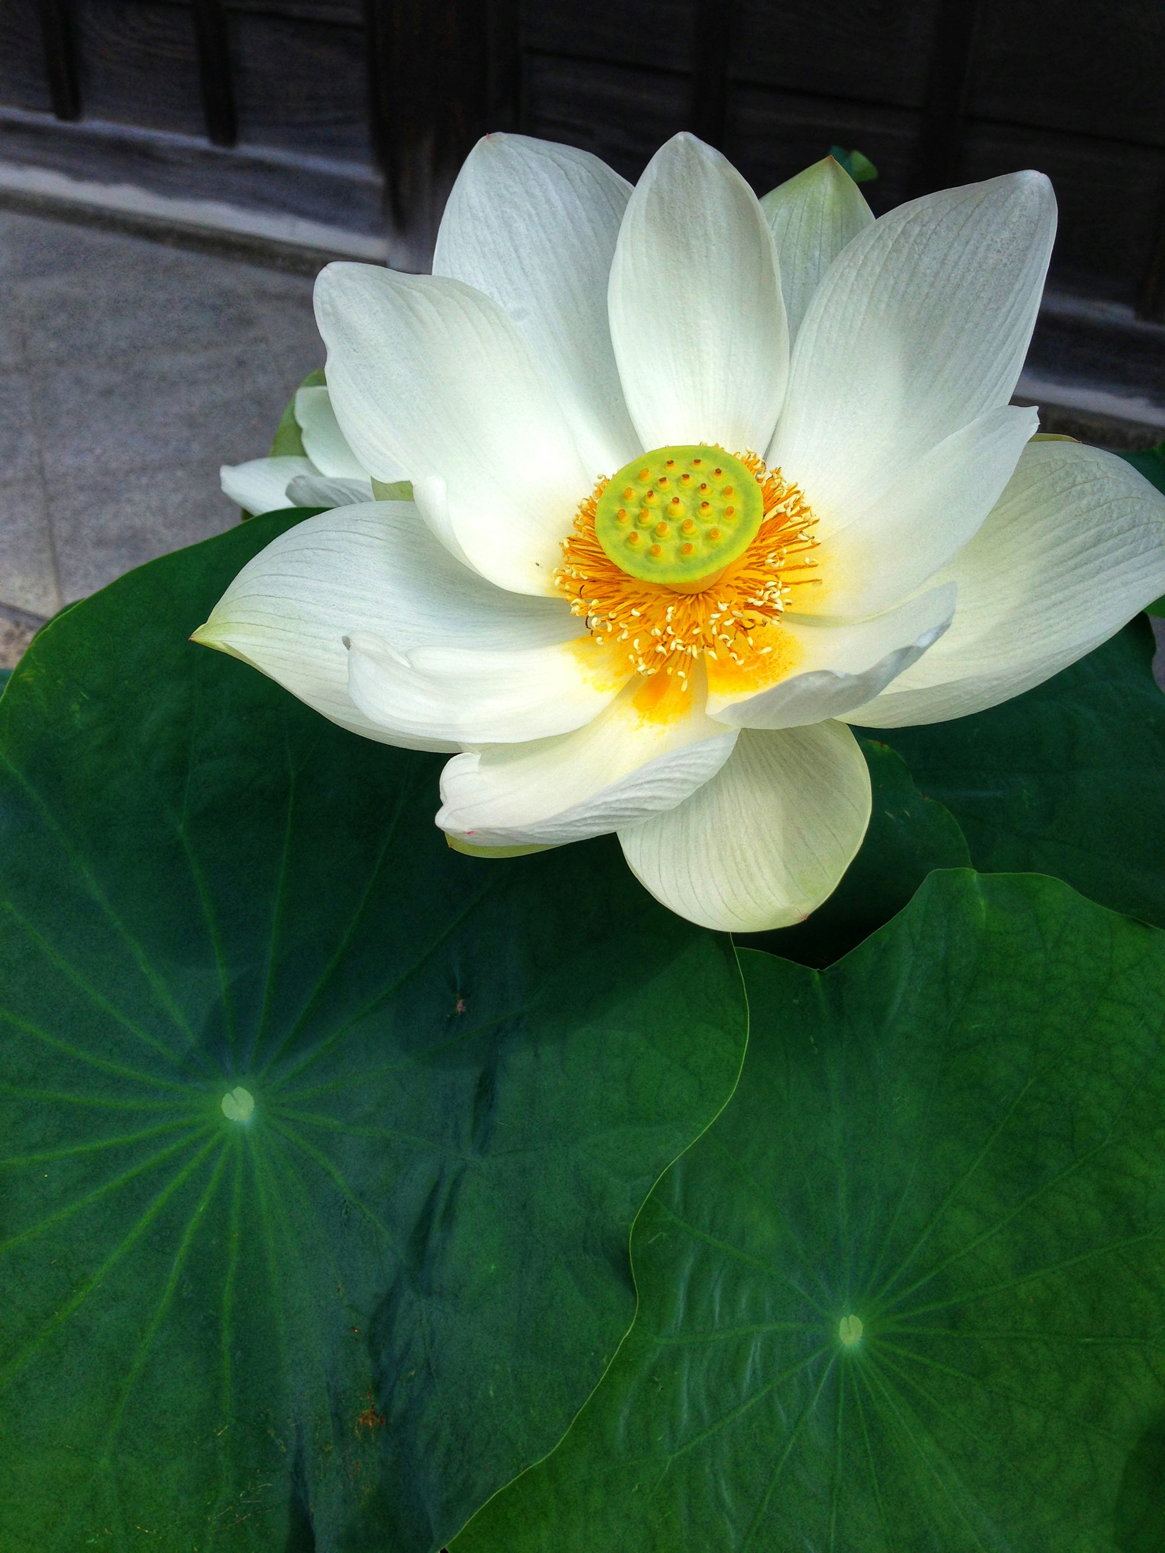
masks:
<instances>
[{"instance_id":1,"label":"green lotus leaf filling the lower right corner, with pale centre dot","mask_svg":"<svg viewBox=\"0 0 1165 1553\"><path fill-rule=\"evenodd\" d=\"M452 1553L1156 1553L1165 935L952 871L823 974L741 958L635 1325Z\"/></svg>"}]
</instances>

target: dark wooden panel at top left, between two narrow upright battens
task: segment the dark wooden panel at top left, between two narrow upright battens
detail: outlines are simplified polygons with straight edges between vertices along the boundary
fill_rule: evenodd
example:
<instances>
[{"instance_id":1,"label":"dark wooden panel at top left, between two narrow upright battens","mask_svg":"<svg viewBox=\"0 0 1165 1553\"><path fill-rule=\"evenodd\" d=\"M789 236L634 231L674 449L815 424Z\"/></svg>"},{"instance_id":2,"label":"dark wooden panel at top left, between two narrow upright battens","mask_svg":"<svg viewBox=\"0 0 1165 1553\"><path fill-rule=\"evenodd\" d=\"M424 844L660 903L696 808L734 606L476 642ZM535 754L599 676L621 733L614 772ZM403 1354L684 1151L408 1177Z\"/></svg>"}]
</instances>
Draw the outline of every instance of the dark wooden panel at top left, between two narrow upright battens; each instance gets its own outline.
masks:
<instances>
[{"instance_id":1,"label":"dark wooden panel at top left, between two narrow upright battens","mask_svg":"<svg viewBox=\"0 0 1165 1553\"><path fill-rule=\"evenodd\" d=\"M190 6L78 0L85 118L205 135Z\"/></svg>"}]
</instances>

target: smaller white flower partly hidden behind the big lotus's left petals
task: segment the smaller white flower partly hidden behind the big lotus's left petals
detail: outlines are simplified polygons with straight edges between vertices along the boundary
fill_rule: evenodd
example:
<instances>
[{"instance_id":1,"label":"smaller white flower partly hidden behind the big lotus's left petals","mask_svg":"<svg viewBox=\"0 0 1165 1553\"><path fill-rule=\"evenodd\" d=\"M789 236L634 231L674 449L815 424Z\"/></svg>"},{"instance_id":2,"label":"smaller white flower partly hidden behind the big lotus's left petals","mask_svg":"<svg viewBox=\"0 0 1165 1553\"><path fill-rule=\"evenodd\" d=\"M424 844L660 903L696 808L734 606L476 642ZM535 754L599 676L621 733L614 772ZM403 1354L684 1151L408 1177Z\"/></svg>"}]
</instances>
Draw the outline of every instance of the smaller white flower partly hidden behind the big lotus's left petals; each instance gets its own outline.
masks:
<instances>
[{"instance_id":1,"label":"smaller white flower partly hidden behind the big lotus's left petals","mask_svg":"<svg viewBox=\"0 0 1165 1553\"><path fill-rule=\"evenodd\" d=\"M295 421L306 458L252 458L222 464L219 481L231 502L250 512L283 506L353 506L371 502L373 481L348 446L326 388L295 391ZM402 480L401 472L393 480ZM387 483L387 481L385 481Z\"/></svg>"}]
</instances>

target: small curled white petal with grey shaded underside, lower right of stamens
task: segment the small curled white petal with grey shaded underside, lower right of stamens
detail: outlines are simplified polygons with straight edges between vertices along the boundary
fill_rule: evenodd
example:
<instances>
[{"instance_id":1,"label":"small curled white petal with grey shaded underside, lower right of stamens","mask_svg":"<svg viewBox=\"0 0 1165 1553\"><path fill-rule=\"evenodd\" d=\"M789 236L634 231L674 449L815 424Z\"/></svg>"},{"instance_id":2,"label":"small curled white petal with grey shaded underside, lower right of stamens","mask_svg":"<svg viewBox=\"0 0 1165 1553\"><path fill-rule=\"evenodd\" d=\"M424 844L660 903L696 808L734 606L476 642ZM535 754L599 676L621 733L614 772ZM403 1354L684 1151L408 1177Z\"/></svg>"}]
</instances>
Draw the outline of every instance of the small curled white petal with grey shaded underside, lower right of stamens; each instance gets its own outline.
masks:
<instances>
[{"instance_id":1,"label":"small curled white petal with grey shaded underside, lower right of stamens","mask_svg":"<svg viewBox=\"0 0 1165 1553\"><path fill-rule=\"evenodd\" d=\"M948 582L875 620L786 615L781 631L797 644L797 672L747 699L710 694L708 716L735 728L797 728L840 717L916 663L954 612L955 587Z\"/></svg>"}]
</instances>

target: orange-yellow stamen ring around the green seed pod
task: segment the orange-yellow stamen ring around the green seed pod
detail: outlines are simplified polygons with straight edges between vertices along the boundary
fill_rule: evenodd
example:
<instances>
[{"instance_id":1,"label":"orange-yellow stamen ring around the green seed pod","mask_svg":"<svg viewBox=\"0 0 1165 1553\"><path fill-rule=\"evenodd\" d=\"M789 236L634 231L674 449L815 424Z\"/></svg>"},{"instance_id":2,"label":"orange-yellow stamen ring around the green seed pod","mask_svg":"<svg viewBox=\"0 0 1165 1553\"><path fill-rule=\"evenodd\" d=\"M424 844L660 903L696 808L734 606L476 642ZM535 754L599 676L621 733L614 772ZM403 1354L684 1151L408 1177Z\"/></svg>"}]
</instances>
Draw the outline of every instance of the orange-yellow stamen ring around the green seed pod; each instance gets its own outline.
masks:
<instances>
[{"instance_id":1,"label":"orange-yellow stamen ring around the green seed pod","mask_svg":"<svg viewBox=\"0 0 1165 1553\"><path fill-rule=\"evenodd\" d=\"M767 471L755 453L738 453L761 488L764 516L749 548L701 590L683 592L629 576L606 554L595 536L595 508L609 481L600 480L579 505L575 530L562 542L562 565L555 584L584 615L596 643L626 644L637 674L674 674L683 688L694 660L707 654L730 660L746 674L764 669L772 644L764 627L775 624L792 590L817 579L809 551L816 540L805 497Z\"/></svg>"}]
</instances>

